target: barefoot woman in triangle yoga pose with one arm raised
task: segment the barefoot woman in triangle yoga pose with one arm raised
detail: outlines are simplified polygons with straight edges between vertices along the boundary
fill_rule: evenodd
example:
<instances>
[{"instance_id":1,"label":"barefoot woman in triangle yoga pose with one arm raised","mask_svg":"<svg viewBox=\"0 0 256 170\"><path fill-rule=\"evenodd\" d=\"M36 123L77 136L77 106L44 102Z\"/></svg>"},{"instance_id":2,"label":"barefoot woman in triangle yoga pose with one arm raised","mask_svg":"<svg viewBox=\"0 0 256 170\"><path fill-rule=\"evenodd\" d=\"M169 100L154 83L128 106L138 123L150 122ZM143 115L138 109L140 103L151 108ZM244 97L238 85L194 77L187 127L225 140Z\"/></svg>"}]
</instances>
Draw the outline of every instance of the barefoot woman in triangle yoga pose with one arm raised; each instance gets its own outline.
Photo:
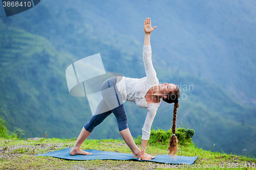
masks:
<instances>
[{"instance_id":1,"label":"barefoot woman in triangle yoga pose with one arm raised","mask_svg":"<svg viewBox=\"0 0 256 170\"><path fill-rule=\"evenodd\" d=\"M147 17L144 21L145 39L143 47L143 61L146 77L141 79L123 77L120 82L117 81L117 77L114 77L106 80L102 84L101 94L103 98L95 111L97 114L94 114L89 122L82 128L74 147L70 151L71 155L92 154L80 149L82 142L108 115L114 113L117 118L119 132L126 144L132 150L134 158L139 158L139 160L151 160L155 158L154 156L146 154L145 148L147 140L150 138L151 125L161 100L167 103L175 103L172 128L174 135L170 137L168 150L169 154L172 156L176 155L178 140L175 136L175 128L177 108L179 107L178 99L180 94L179 88L175 84L159 84L157 79L156 71L151 60L150 45L150 34L155 28L156 27L151 27L151 20ZM127 116L122 103L125 100L134 102L137 106L147 109L147 116L142 128L141 150L135 144L127 126Z\"/></svg>"}]
</instances>

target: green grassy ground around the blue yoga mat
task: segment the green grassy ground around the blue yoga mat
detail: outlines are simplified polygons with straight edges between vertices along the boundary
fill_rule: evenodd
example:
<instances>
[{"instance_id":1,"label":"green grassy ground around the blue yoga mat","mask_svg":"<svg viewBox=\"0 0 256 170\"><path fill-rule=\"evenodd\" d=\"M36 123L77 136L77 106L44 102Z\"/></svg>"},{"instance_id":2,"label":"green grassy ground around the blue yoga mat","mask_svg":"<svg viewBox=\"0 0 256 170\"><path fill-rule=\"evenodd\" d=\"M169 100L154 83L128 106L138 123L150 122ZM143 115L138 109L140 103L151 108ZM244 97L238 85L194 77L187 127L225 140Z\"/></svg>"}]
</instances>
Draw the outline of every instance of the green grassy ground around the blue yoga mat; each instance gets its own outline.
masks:
<instances>
[{"instance_id":1,"label":"green grassy ground around the blue yoga mat","mask_svg":"<svg viewBox=\"0 0 256 170\"><path fill-rule=\"evenodd\" d=\"M134 139L140 143L140 139ZM161 164L153 162L140 161L116 161L116 160L87 160L71 161L53 157L35 156L39 153L47 153L65 148L72 148L76 139L42 138L41 140L19 140L0 138L0 169L168 169L178 167L175 164ZM137 144L141 147L140 144ZM123 140L102 139L85 140L81 149L101 150L111 152L132 153ZM152 155L167 154L167 145L162 143L149 144L146 153ZM193 165L180 165L182 169L223 169L234 165L232 169L252 169L253 163L256 165L254 157L237 156L232 154L204 151L197 148L193 143L187 143L186 146L179 145L179 156L197 156ZM233 163L233 164L232 164ZM236 168L237 165L240 167ZM247 167L244 167L247 165ZM197 167L201 168L197 168ZM208 167L207 167L208 166ZM243 167L241 167L243 166Z\"/></svg>"}]
</instances>

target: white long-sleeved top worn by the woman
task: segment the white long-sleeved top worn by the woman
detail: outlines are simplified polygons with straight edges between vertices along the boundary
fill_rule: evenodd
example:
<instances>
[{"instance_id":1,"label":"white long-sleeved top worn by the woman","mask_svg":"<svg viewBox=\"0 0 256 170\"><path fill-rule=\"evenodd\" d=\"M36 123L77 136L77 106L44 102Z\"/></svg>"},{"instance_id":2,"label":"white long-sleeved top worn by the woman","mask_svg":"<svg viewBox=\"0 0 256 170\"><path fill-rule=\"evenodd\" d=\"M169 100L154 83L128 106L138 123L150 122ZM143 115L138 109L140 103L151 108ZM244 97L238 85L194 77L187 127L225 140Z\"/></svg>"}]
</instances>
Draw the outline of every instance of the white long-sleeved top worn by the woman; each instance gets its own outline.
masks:
<instances>
[{"instance_id":1,"label":"white long-sleeved top worn by the woman","mask_svg":"<svg viewBox=\"0 0 256 170\"><path fill-rule=\"evenodd\" d=\"M134 102L140 108L146 108L147 115L142 128L142 139L150 139L150 132L157 109L161 103L147 104L146 92L154 86L159 85L156 71L151 60L151 45L143 46L143 61L145 65L146 77L141 79L132 79L126 77L118 77L117 89L120 92L122 101ZM120 80L121 79L121 80Z\"/></svg>"}]
</instances>

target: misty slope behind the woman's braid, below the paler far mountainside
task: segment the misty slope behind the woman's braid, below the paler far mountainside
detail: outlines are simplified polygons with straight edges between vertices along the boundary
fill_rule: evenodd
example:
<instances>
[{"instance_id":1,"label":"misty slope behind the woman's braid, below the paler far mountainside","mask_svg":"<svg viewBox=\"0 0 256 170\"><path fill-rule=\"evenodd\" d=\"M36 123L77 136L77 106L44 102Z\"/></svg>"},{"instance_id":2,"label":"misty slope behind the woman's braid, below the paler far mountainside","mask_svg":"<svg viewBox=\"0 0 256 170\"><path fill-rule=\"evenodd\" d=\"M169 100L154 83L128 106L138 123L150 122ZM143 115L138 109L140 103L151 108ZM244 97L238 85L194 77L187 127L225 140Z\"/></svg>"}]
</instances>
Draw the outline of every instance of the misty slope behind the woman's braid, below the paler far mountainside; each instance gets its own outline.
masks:
<instances>
[{"instance_id":1,"label":"misty slope behind the woman's braid, below the paler far mountainside","mask_svg":"<svg viewBox=\"0 0 256 170\"><path fill-rule=\"evenodd\" d=\"M205 78L181 71L156 70L160 81L166 80L179 86L181 96L177 127L194 129L193 141L198 147L212 150L215 143L216 151L221 151L221 148L225 153L241 154L242 148L250 148L251 153L255 153L256 118L253 107L240 104L223 87ZM168 130L172 127L172 114L173 105L161 103L156 115L157 123L154 121L153 126ZM243 141L237 142L241 139L237 134L243 136Z\"/></svg>"}]
</instances>

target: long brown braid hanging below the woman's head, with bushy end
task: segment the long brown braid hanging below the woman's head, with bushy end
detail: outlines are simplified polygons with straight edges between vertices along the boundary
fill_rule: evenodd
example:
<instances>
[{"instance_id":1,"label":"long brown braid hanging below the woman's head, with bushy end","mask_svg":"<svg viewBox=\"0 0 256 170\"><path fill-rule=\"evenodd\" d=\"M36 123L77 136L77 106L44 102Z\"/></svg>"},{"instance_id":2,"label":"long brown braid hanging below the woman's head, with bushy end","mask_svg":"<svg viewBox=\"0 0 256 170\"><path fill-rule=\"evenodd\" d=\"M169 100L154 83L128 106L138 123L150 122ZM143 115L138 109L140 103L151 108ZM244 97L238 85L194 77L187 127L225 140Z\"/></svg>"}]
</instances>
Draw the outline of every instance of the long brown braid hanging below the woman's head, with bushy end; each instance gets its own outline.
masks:
<instances>
[{"instance_id":1,"label":"long brown braid hanging below the woman's head, with bushy end","mask_svg":"<svg viewBox=\"0 0 256 170\"><path fill-rule=\"evenodd\" d=\"M178 107L179 107L179 103L177 102L174 104L174 117L173 117L173 127L172 127L173 134L175 134L176 132L176 118L177 118ZM169 150L168 154L172 155L175 158L175 155L178 151L178 138L176 137L176 135L172 135L170 137L168 150Z\"/></svg>"}]
</instances>

